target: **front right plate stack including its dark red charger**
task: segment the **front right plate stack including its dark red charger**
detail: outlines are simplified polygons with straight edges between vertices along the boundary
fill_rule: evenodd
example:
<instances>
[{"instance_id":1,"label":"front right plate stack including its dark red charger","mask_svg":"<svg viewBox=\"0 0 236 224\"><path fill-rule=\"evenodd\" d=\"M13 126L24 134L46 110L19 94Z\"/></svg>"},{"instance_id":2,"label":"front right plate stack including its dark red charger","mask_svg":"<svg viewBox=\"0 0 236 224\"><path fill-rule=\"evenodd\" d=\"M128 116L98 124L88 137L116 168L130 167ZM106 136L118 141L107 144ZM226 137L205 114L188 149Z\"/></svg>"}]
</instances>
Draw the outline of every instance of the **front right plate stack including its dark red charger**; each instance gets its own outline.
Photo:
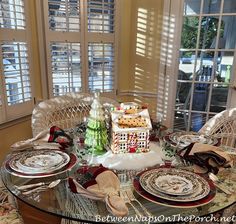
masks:
<instances>
[{"instance_id":1,"label":"front right plate stack including its dark red charger","mask_svg":"<svg viewBox=\"0 0 236 224\"><path fill-rule=\"evenodd\" d=\"M197 207L209 203L215 187L198 174L174 168L157 168L138 174L138 194L152 202L171 207Z\"/></svg>"}]
</instances>

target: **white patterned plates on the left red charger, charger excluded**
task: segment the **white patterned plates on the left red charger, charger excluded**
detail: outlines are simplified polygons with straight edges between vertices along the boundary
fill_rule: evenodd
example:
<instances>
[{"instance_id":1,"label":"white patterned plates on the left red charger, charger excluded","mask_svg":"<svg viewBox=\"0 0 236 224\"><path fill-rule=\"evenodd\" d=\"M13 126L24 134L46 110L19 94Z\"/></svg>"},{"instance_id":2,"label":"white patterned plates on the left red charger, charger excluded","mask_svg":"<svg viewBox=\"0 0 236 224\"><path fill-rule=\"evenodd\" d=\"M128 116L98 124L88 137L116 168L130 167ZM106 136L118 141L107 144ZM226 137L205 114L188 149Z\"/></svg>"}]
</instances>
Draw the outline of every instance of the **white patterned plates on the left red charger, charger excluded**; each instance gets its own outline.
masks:
<instances>
[{"instance_id":1,"label":"white patterned plates on the left red charger, charger excluded","mask_svg":"<svg viewBox=\"0 0 236 224\"><path fill-rule=\"evenodd\" d=\"M11 169L25 173L51 173L63 168L70 156L58 150L31 150L15 155L9 161Z\"/></svg>"}]
</instances>

